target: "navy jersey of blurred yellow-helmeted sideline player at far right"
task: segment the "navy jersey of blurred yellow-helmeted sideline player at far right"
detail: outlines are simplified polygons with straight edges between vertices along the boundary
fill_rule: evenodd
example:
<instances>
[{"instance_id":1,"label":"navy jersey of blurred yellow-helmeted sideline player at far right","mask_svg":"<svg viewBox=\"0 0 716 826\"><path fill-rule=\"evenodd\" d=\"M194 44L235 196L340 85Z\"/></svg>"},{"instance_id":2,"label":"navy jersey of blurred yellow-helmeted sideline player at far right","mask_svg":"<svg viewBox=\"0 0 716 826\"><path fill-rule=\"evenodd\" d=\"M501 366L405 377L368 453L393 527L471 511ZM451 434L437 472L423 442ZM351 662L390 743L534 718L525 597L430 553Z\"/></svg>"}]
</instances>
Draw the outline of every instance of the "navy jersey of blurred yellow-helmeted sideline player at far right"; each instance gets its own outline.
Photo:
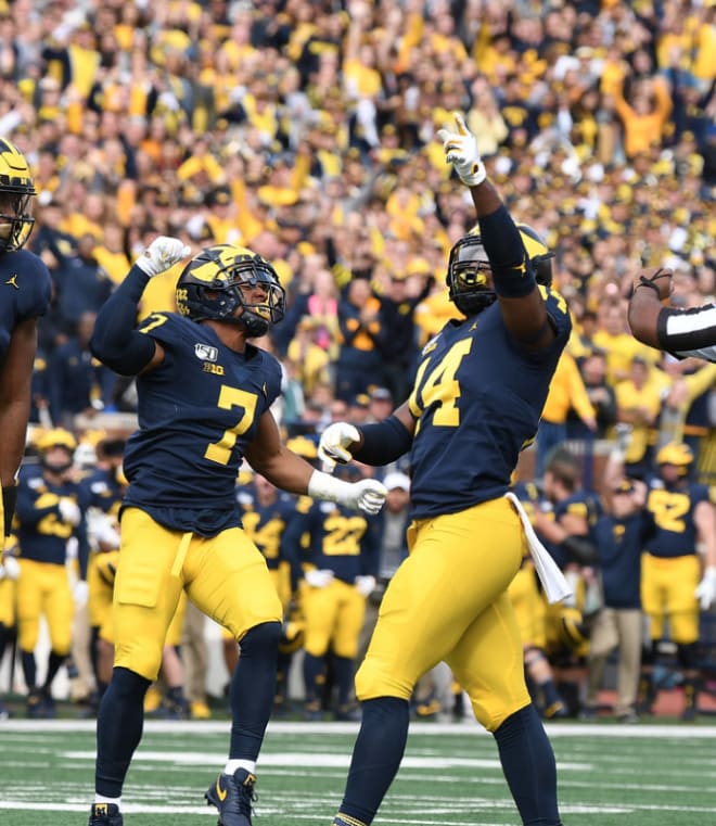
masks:
<instances>
[{"instance_id":1,"label":"navy jersey of blurred yellow-helmeted sideline player at far right","mask_svg":"<svg viewBox=\"0 0 716 826\"><path fill-rule=\"evenodd\" d=\"M647 543L654 557L674 558L696 554L696 525L693 511L700 501L708 501L708 486L687 483L666 486L652 480L647 508L654 514L656 533Z\"/></svg>"}]
</instances>

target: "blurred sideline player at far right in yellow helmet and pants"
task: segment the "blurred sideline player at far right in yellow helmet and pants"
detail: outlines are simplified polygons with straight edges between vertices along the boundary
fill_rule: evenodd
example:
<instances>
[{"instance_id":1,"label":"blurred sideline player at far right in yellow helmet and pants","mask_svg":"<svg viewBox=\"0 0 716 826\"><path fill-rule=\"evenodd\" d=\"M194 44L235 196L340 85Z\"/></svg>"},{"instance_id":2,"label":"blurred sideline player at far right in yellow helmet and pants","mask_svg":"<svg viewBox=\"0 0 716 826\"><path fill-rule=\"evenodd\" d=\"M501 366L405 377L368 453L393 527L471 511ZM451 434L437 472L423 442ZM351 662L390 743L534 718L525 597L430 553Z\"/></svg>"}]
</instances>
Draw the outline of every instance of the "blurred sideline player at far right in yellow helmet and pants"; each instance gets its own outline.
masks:
<instances>
[{"instance_id":1,"label":"blurred sideline player at far right in yellow helmet and pants","mask_svg":"<svg viewBox=\"0 0 716 826\"><path fill-rule=\"evenodd\" d=\"M690 481L692 462L691 448L681 442L669 442L656 454L659 474L650 480L647 498L656 531L641 560L641 602L652 641L643 669L641 710L651 711L656 698L652 665L668 620L683 675L685 721L698 713L699 608L708 610L716 601L716 509L708 486Z\"/></svg>"}]
</instances>

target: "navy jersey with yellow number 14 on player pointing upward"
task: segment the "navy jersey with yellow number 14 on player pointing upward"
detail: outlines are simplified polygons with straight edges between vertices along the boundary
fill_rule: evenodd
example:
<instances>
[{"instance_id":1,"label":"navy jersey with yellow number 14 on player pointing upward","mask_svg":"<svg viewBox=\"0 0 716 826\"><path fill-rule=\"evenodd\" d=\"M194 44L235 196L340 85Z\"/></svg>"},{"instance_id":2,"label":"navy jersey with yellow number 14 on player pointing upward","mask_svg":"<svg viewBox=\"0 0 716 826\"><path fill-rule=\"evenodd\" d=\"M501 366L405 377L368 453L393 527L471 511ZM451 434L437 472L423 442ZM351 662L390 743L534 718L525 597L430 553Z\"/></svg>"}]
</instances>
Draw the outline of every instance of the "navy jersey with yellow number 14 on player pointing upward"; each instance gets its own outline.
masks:
<instances>
[{"instance_id":1,"label":"navy jersey with yellow number 14 on player pointing upward","mask_svg":"<svg viewBox=\"0 0 716 826\"><path fill-rule=\"evenodd\" d=\"M423 348L409 399L418 419L410 454L413 518L453 513L510 487L572 328L564 300L546 295L557 338L542 351L527 353L512 341L497 303L449 321Z\"/></svg>"}]
</instances>

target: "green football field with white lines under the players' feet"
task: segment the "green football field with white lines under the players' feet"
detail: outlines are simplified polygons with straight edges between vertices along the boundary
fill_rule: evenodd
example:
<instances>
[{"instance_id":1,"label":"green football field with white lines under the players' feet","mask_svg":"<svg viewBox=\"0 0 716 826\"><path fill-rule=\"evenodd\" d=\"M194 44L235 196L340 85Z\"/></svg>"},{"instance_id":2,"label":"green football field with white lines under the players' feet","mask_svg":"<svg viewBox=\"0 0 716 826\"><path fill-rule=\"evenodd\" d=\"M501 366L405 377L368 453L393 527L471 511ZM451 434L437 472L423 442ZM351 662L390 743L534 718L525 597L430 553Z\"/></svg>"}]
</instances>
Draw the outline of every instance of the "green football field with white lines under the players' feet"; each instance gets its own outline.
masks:
<instances>
[{"instance_id":1,"label":"green football field with white lines under the players' feet","mask_svg":"<svg viewBox=\"0 0 716 826\"><path fill-rule=\"evenodd\" d=\"M214 826L203 795L223 765L228 721L148 722L125 826ZM271 723L254 826L328 826L356 724ZM716 726L548 725L565 826L716 826ZM86 826L94 722L0 722L0 824ZM491 736L473 722L411 724L376 826L517 826Z\"/></svg>"}]
</instances>

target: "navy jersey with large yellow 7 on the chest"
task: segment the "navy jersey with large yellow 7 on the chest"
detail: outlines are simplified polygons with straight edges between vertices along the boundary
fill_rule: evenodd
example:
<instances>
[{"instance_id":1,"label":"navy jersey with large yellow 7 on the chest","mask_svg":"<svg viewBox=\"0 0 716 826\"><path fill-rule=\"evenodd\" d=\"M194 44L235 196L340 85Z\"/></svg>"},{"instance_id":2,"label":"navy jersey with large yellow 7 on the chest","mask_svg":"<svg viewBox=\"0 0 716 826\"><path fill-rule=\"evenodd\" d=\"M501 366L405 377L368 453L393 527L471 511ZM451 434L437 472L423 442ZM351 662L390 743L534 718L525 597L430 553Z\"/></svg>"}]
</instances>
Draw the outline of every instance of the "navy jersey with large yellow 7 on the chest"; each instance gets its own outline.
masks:
<instances>
[{"instance_id":1,"label":"navy jersey with large yellow 7 on the chest","mask_svg":"<svg viewBox=\"0 0 716 826\"><path fill-rule=\"evenodd\" d=\"M164 347L159 367L137 378L139 430L125 450L125 505L175 531L215 536L241 524L234 487L259 418L281 390L277 359L174 313L140 326Z\"/></svg>"}]
</instances>

